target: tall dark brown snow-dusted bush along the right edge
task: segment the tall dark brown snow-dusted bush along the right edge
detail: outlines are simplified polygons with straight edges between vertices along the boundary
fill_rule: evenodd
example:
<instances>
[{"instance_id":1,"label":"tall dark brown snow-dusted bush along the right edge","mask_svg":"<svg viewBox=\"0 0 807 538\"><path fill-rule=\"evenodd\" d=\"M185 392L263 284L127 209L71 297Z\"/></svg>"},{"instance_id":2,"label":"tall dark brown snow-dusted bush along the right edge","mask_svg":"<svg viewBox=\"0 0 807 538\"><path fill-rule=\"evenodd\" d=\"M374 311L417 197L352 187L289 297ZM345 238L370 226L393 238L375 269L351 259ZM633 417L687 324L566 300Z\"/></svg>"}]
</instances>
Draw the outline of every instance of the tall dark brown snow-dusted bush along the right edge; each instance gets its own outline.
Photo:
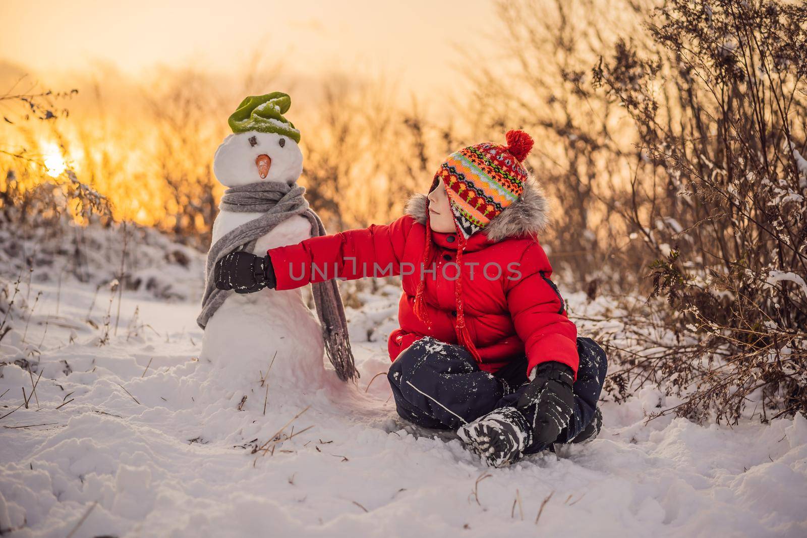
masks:
<instances>
[{"instance_id":1,"label":"tall dark brown snow-dusted bush along the right edge","mask_svg":"<svg viewBox=\"0 0 807 538\"><path fill-rule=\"evenodd\" d=\"M752 394L763 419L807 411L805 23L784 2L668 0L654 48L620 41L593 72L636 125L629 215L676 337L645 331L663 352L623 354L612 383L672 380L682 415L736 420Z\"/></svg>"}]
</instances>

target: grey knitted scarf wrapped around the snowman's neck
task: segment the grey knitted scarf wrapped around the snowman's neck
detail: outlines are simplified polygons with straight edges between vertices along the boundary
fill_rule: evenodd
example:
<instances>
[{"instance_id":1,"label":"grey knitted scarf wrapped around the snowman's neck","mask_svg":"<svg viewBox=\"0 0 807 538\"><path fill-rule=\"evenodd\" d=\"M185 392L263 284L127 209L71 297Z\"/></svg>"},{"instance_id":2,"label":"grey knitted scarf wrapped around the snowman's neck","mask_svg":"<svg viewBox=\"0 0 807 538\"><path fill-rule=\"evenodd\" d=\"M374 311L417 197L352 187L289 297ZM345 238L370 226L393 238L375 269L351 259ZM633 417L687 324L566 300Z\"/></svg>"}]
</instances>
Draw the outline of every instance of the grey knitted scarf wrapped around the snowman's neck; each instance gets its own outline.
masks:
<instances>
[{"instance_id":1,"label":"grey knitted scarf wrapped around the snowman's neck","mask_svg":"<svg viewBox=\"0 0 807 538\"><path fill-rule=\"evenodd\" d=\"M279 223L294 215L303 215L308 219L311 223L312 236L326 235L320 217L308 206L303 193L305 189L301 186L290 186L276 181L259 181L230 187L224 191L219 204L220 211L260 212L263 215L236 227L211 245L205 268L202 313L196 319L199 327L207 326L207 320L224 303L224 299L228 298L229 294L235 293L232 290L219 290L215 287L213 270L215 262L221 257L241 246L246 252L252 251L258 238L265 236ZM328 352L331 364L337 369L337 376L342 381L357 378L358 371L350 349L345 307L342 305L337 281L328 280L312 284L312 292L316 313L322 325L325 351Z\"/></svg>"}]
</instances>

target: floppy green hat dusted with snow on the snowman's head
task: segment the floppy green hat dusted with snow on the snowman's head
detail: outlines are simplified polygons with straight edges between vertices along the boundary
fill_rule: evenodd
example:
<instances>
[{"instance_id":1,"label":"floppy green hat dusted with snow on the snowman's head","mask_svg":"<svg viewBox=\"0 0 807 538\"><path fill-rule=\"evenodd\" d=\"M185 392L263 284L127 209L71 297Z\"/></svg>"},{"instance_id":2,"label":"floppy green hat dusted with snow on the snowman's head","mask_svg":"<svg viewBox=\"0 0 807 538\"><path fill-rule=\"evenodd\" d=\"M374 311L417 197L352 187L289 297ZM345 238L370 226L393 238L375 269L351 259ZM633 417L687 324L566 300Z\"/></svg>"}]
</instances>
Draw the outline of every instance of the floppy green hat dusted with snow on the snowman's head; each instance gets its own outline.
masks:
<instances>
[{"instance_id":1,"label":"floppy green hat dusted with snow on the snowman's head","mask_svg":"<svg viewBox=\"0 0 807 538\"><path fill-rule=\"evenodd\" d=\"M300 131L283 117L289 111L291 97L280 91L266 95L250 95L241 101L228 122L232 132L276 132L299 144Z\"/></svg>"}]
</instances>

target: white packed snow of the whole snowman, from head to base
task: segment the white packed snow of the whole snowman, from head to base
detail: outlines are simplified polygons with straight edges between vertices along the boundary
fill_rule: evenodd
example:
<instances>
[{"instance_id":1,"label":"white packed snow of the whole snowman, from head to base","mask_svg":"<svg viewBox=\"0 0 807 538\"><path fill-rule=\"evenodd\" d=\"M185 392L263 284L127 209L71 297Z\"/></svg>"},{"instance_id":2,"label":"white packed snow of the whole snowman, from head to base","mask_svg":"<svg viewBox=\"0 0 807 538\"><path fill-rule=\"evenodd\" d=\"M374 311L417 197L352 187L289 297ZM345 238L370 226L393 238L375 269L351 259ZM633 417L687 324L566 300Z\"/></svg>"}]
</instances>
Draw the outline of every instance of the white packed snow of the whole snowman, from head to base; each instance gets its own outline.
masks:
<instances>
[{"instance_id":1,"label":"white packed snow of the whole snowman, from head to base","mask_svg":"<svg viewBox=\"0 0 807 538\"><path fill-rule=\"evenodd\" d=\"M270 157L266 177L259 173L258 156ZM302 173L302 163L294 140L251 131L228 136L215 153L213 169L224 186L256 181L291 184ZM261 213L220 211L213 224L213 243L259 216ZM263 256L269 248L297 244L310 236L311 223L295 215L259 238L253 253ZM295 385L306 391L316 390L324 382L323 352L320 323L303 302L301 290L265 289L228 296L207 321L200 358L227 369L228 382L245 392L260 385L261 373L266 376L274 360L267 377L270 387ZM253 400L262 405L262 398Z\"/></svg>"}]
</instances>

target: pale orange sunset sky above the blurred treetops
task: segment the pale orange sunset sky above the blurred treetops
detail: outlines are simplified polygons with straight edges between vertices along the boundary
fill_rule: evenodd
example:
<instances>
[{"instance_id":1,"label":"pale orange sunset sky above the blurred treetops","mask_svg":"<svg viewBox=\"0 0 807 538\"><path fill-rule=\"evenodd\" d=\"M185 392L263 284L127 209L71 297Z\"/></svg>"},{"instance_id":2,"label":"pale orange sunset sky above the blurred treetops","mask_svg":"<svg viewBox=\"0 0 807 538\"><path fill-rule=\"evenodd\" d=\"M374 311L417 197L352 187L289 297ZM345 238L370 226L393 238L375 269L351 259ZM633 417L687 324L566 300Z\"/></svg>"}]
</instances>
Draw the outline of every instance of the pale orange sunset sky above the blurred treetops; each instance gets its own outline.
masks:
<instances>
[{"instance_id":1,"label":"pale orange sunset sky above the blurred treetops","mask_svg":"<svg viewBox=\"0 0 807 538\"><path fill-rule=\"evenodd\" d=\"M3 0L0 19L0 61L48 81L104 64L130 77L158 64L228 74L260 52L290 77L381 76L403 98L434 100L453 94L463 52L485 56L495 34L492 2L467 0Z\"/></svg>"}]
</instances>

